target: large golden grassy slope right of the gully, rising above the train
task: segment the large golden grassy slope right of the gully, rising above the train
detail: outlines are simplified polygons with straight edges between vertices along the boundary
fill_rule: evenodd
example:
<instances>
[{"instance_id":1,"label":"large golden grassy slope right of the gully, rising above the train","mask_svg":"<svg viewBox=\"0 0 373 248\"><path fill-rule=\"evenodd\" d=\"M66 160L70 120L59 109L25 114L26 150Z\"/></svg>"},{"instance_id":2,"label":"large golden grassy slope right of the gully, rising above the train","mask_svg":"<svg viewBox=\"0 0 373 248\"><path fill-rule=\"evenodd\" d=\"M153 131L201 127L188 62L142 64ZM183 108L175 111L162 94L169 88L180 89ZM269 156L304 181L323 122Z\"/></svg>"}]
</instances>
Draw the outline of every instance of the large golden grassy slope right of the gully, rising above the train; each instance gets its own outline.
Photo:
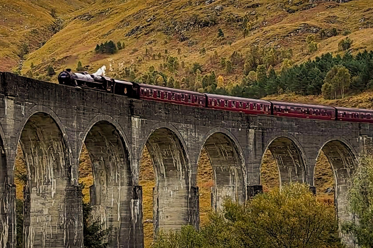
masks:
<instances>
[{"instance_id":1,"label":"large golden grassy slope right of the gully, rising above the train","mask_svg":"<svg viewBox=\"0 0 373 248\"><path fill-rule=\"evenodd\" d=\"M146 48L153 48L154 53L161 52L164 55L165 48L169 54L178 56L180 61L186 64L200 62L205 71L215 70L223 75L226 81L237 81L242 75L242 68L236 68L232 74L227 75L218 64L209 62L208 58L217 51L219 56L229 57L234 50L245 54L253 44L261 47L279 46L293 49L294 62L302 62L314 58L325 52L337 52L338 43L345 38L338 35L321 40L316 35L319 50L309 55L302 52L305 46L305 38L310 33L300 31L293 36L290 33L298 30L303 24L311 27L330 30L337 28L340 32L349 30L349 35L355 42L352 51L373 48L373 36L370 35L373 28L370 22L373 10L369 8L370 0L353 0L348 3L337 4L335 2L316 2L316 6L309 10L299 10L289 14L284 8L300 9L304 4L297 6L298 1L289 5L286 0L241 0L240 3L231 3L230 0L216 0L206 5L201 1L199 5L188 4L188 0L111 0L105 3L97 1L95 4L79 10L73 16L90 16L88 19L70 18L66 27L55 34L43 47L30 54L24 63L22 72L27 73L33 62L33 72L45 74L48 64L53 64L57 71L65 67L75 68L78 61L84 65L90 65L97 69L102 64L111 68L111 74L118 73L123 66L136 64L139 71L145 71L150 65L158 65L162 60L145 59L138 62L139 56L144 57ZM259 3L258 8L247 6ZM222 12L215 12L217 5L225 6ZM281 7L283 6L283 7ZM252 15L255 12L257 20ZM192 22L192 16L196 15L200 20L215 19L217 24L212 27L198 28L196 25L187 25ZM235 18L249 16L255 30L246 38L243 37L240 22L232 21ZM235 17L232 17L235 16ZM361 18L365 20L359 22ZM175 25L175 29L186 25L183 31L175 31L171 20L179 21L181 25ZM136 26L144 26L141 31L126 36ZM218 29L224 31L223 39L217 37ZM194 46L188 46L189 42L180 42L180 34L190 37L190 41L196 42ZM126 47L114 55L96 54L96 44L107 40L125 42ZM147 45L152 43L151 45ZM181 48L181 54L177 54L177 48ZM199 50L205 47L207 54L201 56ZM134 52L134 48L138 51ZM176 78L182 77L184 72L179 70ZM238 76L238 77L237 77ZM56 76L51 78L56 80Z\"/></svg>"}]
</instances>

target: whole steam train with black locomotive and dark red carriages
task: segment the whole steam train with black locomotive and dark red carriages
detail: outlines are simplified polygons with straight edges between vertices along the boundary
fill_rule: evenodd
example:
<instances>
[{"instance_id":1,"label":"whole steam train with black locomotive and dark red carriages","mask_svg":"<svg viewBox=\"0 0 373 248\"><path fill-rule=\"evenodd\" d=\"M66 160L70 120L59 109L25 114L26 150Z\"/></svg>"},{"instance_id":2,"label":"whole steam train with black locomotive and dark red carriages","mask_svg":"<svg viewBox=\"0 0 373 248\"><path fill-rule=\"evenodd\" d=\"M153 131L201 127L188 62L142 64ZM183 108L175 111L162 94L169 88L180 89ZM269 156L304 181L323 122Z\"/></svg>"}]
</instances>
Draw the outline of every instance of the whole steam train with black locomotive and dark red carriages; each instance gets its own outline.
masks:
<instances>
[{"instance_id":1,"label":"whole steam train with black locomotive and dark red carriages","mask_svg":"<svg viewBox=\"0 0 373 248\"><path fill-rule=\"evenodd\" d=\"M125 95L130 98L188 105L198 108L243 112L250 115L275 115L330 121L373 123L373 110L256 100L198 93L167 87L128 82L70 69L58 75L60 84Z\"/></svg>"}]
</instances>

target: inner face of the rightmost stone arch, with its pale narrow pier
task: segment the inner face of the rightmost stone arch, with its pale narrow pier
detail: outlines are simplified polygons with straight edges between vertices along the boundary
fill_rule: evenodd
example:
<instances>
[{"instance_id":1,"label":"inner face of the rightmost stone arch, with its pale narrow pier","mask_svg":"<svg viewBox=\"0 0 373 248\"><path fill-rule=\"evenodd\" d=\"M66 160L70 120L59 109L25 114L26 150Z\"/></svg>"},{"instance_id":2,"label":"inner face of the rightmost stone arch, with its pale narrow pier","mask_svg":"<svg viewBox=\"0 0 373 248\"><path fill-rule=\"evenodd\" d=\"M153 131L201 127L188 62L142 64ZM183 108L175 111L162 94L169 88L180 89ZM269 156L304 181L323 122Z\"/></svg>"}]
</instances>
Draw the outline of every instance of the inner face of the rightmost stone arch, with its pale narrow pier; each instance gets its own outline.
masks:
<instances>
[{"instance_id":1,"label":"inner face of the rightmost stone arch, with its pale narrow pier","mask_svg":"<svg viewBox=\"0 0 373 248\"><path fill-rule=\"evenodd\" d=\"M321 151L332 167L335 183L334 203L338 219L351 220L352 215L347 210L347 191L356 166L356 151L346 140L341 138L327 140L319 150L318 156Z\"/></svg>"}]
</instances>

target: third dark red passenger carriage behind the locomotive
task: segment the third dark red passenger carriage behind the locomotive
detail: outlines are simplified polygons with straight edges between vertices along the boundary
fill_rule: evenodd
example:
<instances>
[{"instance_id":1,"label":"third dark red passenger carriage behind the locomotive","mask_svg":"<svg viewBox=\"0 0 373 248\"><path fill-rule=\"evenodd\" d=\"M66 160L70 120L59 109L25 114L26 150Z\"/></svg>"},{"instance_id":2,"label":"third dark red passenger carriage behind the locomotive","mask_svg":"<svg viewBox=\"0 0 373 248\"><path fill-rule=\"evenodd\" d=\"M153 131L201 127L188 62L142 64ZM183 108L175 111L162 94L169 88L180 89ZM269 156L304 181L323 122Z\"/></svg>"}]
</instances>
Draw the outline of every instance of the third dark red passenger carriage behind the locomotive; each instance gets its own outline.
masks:
<instances>
[{"instance_id":1,"label":"third dark red passenger carriage behind the locomotive","mask_svg":"<svg viewBox=\"0 0 373 248\"><path fill-rule=\"evenodd\" d=\"M336 109L329 106L273 102L273 115L308 118L318 120L336 120Z\"/></svg>"}]
</instances>

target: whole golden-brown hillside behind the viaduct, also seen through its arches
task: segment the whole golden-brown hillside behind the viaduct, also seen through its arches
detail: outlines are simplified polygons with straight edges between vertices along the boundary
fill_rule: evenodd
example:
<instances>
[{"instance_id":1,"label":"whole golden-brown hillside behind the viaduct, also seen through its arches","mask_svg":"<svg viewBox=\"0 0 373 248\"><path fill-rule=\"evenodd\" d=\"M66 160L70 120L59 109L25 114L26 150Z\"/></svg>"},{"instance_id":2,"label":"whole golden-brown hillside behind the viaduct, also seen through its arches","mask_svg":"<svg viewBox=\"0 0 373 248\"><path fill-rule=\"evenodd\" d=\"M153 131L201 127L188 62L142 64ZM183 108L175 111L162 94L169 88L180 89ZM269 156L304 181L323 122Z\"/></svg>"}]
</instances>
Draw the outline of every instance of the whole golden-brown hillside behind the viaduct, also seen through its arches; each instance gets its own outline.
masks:
<instances>
[{"instance_id":1,"label":"whole golden-brown hillside behind the viaduct, also seen through its arches","mask_svg":"<svg viewBox=\"0 0 373 248\"><path fill-rule=\"evenodd\" d=\"M284 62L301 64L327 52L355 55L373 50L372 0L341 1L347 0L0 0L0 71L56 82L61 70L75 70L80 61L81 69L95 72L106 65L108 76L130 80L149 79L145 73L155 70L162 77L153 75L152 83L156 78L155 83L169 85L172 78L181 88L191 90L199 90L195 82L202 83L201 78L214 71L231 93L234 84L244 77L245 63L255 60L254 53L261 57L268 73L271 68L280 72ZM347 37L353 41L352 46L339 51L339 42ZM100 46L95 50L108 41L113 41L117 50L111 53ZM228 61L232 62L230 69ZM264 99L373 109L372 91L351 91L337 100L279 93ZM85 147L80 163L79 182L85 185L84 201L88 202L93 180ZM201 154L198 166L203 223L210 211L213 185L206 153ZM16 168L24 174L20 149ZM18 198L22 198L21 181L16 180ZM279 185L270 152L262 162L261 182L264 190ZM149 247L153 223L146 220L153 215L154 174L146 149L140 185L145 244ZM315 185L318 197L333 202L333 193L325 193L334 182L323 154L317 162Z\"/></svg>"}]
</instances>

